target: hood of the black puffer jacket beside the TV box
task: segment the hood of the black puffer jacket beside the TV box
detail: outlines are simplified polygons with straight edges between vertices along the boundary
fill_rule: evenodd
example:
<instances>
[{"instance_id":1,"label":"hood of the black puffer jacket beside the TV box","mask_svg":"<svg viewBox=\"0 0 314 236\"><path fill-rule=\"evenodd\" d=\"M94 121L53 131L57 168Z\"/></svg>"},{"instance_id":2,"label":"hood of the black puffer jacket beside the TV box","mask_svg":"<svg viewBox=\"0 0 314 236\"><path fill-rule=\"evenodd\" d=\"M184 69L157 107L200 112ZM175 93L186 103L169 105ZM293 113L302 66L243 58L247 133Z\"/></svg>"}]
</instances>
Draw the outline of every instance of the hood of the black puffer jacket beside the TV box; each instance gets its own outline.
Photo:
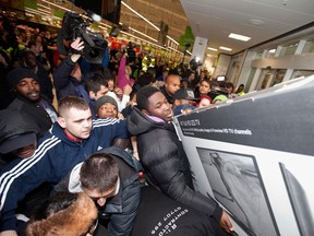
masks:
<instances>
[{"instance_id":1,"label":"hood of the black puffer jacket beside the TV box","mask_svg":"<svg viewBox=\"0 0 314 236\"><path fill-rule=\"evenodd\" d=\"M153 129L169 129L171 123L156 122L145 116L136 106L128 117L128 129L132 135L138 135Z\"/></svg>"}]
</instances>

